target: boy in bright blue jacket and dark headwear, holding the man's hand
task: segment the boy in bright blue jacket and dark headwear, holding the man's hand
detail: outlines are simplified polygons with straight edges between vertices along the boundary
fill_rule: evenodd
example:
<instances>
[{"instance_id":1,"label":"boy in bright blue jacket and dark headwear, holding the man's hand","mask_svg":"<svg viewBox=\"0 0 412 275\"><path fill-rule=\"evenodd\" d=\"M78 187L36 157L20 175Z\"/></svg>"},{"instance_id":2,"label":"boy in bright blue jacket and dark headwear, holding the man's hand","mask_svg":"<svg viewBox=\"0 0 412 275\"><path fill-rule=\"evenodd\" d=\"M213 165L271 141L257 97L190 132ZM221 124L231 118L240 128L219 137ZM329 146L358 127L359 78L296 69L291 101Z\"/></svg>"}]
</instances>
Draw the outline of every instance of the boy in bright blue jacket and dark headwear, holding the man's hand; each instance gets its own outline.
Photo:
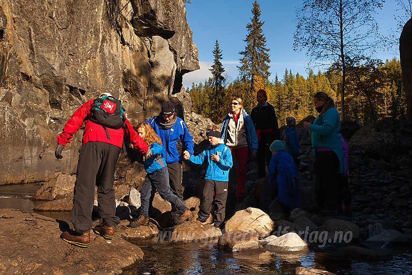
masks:
<instances>
[{"instance_id":1,"label":"boy in bright blue jacket and dark headwear, holding the man's hand","mask_svg":"<svg viewBox=\"0 0 412 275\"><path fill-rule=\"evenodd\" d=\"M233 165L232 153L229 147L223 144L221 133L216 126L206 130L210 146L198 156L185 154L185 160L195 164L202 164L207 160L205 184L203 186L202 198L200 199L199 213L197 221L206 224L209 217L209 208L212 202L215 204L214 226L220 228L224 220L227 199L227 184L229 181L229 170ZM215 198L213 199L213 193Z\"/></svg>"}]
</instances>

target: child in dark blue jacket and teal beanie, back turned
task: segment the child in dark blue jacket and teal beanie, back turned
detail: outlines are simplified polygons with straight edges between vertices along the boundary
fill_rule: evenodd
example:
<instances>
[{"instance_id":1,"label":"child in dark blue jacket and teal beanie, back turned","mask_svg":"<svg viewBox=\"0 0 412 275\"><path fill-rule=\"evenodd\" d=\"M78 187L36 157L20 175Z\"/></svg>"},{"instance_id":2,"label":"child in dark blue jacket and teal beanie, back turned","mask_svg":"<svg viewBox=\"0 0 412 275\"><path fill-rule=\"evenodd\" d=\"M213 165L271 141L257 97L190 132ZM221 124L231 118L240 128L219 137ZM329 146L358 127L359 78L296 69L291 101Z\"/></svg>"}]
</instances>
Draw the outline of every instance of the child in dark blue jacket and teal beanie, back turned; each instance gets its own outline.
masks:
<instances>
[{"instance_id":1,"label":"child in dark blue jacket and teal beanie, back turned","mask_svg":"<svg viewBox=\"0 0 412 275\"><path fill-rule=\"evenodd\" d=\"M269 163L269 184L263 192L259 208L269 211L270 201L277 196L282 213L286 219L290 219L291 207L301 203L298 167L293 158L285 152L283 141L275 140L270 145L270 151L272 158Z\"/></svg>"}]
</instances>

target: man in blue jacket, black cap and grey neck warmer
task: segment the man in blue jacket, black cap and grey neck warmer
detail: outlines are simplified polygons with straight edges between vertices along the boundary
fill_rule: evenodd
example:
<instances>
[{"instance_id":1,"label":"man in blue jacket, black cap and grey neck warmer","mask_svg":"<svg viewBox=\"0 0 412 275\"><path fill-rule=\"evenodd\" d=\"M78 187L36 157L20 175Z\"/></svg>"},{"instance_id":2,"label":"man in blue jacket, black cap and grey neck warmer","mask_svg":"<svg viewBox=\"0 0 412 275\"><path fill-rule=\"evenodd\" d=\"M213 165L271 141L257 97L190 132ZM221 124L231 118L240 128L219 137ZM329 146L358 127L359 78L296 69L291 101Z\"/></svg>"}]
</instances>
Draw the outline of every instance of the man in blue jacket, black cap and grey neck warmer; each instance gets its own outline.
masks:
<instances>
[{"instance_id":1,"label":"man in blue jacket, black cap and grey neck warmer","mask_svg":"<svg viewBox=\"0 0 412 275\"><path fill-rule=\"evenodd\" d=\"M181 152L193 154L193 137L190 135L185 122L177 117L174 104L163 102L161 113L146 120L155 130L162 141L162 157L166 160L169 172L169 184L172 193L183 201L182 192L182 160ZM172 219L180 216L177 209L172 207Z\"/></svg>"}]
</instances>

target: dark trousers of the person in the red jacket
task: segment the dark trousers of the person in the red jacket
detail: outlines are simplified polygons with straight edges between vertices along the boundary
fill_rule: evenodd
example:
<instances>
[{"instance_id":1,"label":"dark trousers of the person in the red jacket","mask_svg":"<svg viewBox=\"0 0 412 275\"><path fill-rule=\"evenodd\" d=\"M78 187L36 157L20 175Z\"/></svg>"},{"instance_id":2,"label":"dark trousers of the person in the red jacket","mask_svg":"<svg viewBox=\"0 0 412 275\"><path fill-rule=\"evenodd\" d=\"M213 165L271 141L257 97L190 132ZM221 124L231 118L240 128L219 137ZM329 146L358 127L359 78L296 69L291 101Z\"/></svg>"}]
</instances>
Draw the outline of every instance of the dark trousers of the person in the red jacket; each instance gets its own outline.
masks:
<instances>
[{"instance_id":1,"label":"dark trousers of the person in the red jacket","mask_svg":"<svg viewBox=\"0 0 412 275\"><path fill-rule=\"evenodd\" d=\"M100 217L107 226L120 223L116 213L114 197L114 169L120 148L104 142L88 142L80 148L77 178L74 186L73 209L70 212L76 233L82 234L93 226L92 211L97 203Z\"/></svg>"}]
</instances>

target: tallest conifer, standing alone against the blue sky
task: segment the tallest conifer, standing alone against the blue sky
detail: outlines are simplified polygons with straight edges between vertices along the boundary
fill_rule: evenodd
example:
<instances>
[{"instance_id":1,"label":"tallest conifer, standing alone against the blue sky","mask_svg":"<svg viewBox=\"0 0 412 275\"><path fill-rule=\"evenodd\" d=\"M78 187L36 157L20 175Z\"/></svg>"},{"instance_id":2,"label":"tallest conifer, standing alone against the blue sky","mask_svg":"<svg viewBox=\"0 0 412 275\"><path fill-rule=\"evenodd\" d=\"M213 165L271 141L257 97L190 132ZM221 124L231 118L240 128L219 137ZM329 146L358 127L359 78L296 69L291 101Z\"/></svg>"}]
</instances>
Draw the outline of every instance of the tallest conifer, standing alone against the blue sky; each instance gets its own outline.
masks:
<instances>
[{"instance_id":1,"label":"tallest conifer, standing alone against the blue sky","mask_svg":"<svg viewBox=\"0 0 412 275\"><path fill-rule=\"evenodd\" d=\"M260 6L256 0L253 3L252 15L251 23L246 25L246 46L244 51L239 52L243 57L239 60L241 66L238 66L241 80L250 83L250 93L247 98L243 98L248 104L255 101L255 92L258 90L255 85L256 79L266 83L270 75L269 48L266 48L266 38L262 31L264 22L260 21Z\"/></svg>"}]
</instances>

